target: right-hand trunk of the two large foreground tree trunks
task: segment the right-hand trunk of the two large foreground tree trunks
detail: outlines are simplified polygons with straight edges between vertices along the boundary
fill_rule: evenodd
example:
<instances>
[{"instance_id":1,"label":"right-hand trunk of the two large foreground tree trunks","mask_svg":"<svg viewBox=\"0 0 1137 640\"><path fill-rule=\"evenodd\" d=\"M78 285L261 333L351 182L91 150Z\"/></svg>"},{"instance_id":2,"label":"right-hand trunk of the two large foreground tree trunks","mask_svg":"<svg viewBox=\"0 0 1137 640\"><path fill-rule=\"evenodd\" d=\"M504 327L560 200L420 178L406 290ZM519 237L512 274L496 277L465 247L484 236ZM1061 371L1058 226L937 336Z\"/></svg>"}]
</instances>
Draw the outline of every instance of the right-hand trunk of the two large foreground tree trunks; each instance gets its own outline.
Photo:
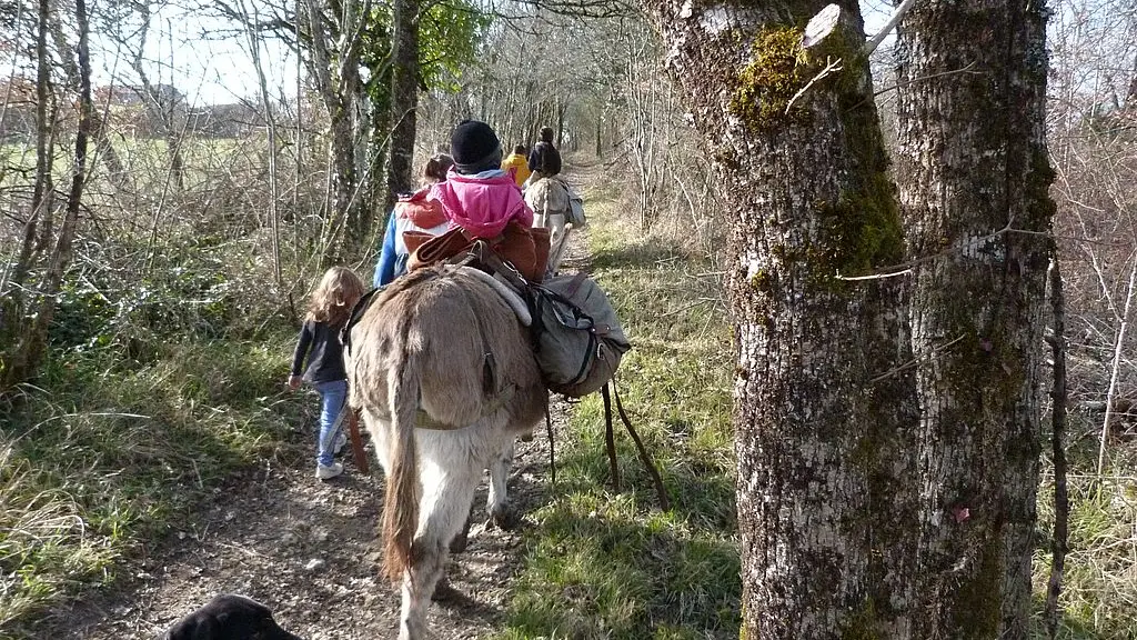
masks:
<instances>
[{"instance_id":1,"label":"right-hand trunk of the two large foreground tree trunks","mask_svg":"<svg viewBox=\"0 0 1137 640\"><path fill-rule=\"evenodd\" d=\"M915 638L1028 637L1053 173L1045 2L916 2L897 175L924 409ZM1023 230L1027 232L1020 232Z\"/></svg>"}]
</instances>

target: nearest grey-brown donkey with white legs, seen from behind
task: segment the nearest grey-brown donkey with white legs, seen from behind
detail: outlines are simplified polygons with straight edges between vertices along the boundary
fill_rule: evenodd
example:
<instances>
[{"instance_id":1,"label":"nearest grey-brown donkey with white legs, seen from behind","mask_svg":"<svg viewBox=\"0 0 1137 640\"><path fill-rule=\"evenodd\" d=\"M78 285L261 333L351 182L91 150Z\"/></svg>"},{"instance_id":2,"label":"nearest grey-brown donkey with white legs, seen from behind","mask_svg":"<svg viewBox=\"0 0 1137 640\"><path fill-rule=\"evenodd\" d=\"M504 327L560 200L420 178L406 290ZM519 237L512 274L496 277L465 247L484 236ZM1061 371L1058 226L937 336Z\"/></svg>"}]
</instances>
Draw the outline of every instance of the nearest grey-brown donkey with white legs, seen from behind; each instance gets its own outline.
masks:
<instances>
[{"instance_id":1,"label":"nearest grey-brown donkey with white legs, seen from behind","mask_svg":"<svg viewBox=\"0 0 1137 640\"><path fill-rule=\"evenodd\" d=\"M471 268L414 271L348 336L349 402L387 473L383 568L401 581L400 640L426 634L426 607L482 469L487 509L504 518L514 440L545 415L528 330L495 285Z\"/></svg>"}]
</instances>

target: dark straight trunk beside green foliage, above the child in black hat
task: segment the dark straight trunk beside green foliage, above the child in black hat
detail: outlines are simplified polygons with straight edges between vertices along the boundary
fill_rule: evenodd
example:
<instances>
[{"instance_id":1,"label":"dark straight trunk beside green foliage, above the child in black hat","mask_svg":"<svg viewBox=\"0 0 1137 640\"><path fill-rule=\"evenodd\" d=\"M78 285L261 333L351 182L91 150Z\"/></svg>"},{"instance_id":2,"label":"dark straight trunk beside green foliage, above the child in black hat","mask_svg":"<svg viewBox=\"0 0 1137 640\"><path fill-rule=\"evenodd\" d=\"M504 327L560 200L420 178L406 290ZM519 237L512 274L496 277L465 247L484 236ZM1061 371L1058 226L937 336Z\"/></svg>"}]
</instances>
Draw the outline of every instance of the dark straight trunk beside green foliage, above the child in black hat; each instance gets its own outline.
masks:
<instances>
[{"instance_id":1,"label":"dark straight trunk beside green foliage, above the child in black hat","mask_svg":"<svg viewBox=\"0 0 1137 640\"><path fill-rule=\"evenodd\" d=\"M391 143L384 211L399 194L414 189L418 109L418 0L395 0L391 47Z\"/></svg>"}]
</instances>

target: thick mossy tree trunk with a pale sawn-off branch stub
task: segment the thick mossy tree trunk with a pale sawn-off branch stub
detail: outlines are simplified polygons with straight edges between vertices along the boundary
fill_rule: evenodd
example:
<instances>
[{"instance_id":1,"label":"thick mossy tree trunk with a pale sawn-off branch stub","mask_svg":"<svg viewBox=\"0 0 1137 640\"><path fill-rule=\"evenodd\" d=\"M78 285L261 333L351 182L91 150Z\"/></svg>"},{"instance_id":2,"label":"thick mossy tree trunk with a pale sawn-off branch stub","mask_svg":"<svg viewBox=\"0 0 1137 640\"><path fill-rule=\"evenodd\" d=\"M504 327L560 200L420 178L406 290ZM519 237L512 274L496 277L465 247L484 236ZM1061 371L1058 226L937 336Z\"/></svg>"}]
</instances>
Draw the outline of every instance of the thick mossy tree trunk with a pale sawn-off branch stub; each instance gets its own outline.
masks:
<instances>
[{"instance_id":1,"label":"thick mossy tree trunk with a pale sawn-off branch stub","mask_svg":"<svg viewBox=\"0 0 1137 640\"><path fill-rule=\"evenodd\" d=\"M733 222L729 296L744 637L904 637L914 381L895 189L857 3L650 2ZM841 69L821 74L840 58Z\"/></svg>"}]
</instances>

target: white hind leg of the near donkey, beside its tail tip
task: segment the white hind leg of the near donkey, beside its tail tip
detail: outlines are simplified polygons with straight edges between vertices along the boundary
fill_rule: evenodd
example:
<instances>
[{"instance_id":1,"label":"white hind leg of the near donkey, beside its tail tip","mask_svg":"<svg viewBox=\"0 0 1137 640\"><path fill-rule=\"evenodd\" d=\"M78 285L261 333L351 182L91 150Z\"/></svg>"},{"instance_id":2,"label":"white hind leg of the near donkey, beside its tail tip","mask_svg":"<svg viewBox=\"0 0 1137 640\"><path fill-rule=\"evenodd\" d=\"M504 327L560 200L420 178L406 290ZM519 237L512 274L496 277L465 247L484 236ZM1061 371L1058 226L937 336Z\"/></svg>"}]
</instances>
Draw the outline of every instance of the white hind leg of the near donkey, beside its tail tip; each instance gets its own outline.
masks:
<instances>
[{"instance_id":1,"label":"white hind leg of the near donkey, beside its tail tip","mask_svg":"<svg viewBox=\"0 0 1137 640\"><path fill-rule=\"evenodd\" d=\"M423 440L430 436L422 437ZM425 448L423 448L425 449ZM424 456L420 469L423 499L418 532L410 548L410 566L402 577L402 621L399 640L426 637L426 609L449 558L450 541L462 531L481 469L451 461L449 468Z\"/></svg>"}]
</instances>

